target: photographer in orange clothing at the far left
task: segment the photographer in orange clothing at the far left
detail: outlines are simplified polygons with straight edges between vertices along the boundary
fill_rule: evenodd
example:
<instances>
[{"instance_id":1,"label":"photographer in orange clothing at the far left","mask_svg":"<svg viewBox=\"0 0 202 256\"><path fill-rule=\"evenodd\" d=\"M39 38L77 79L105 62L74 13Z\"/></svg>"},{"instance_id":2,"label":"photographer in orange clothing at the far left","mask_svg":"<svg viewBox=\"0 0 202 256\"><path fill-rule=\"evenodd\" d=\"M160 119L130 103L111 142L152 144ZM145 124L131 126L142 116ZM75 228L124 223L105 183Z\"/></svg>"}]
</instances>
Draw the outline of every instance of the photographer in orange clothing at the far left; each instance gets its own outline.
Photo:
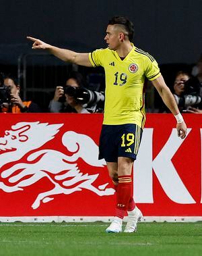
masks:
<instances>
[{"instance_id":1,"label":"photographer in orange clothing at the far left","mask_svg":"<svg viewBox=\"0 0 202 256\"><path fill-rule=\"evenodd\" d=\"M17 80L11 76L0 75L0 107L3 113L38 113L40 107L32 101L22 101L20 98L20 86Z\"/></svg>"}]
</instances>

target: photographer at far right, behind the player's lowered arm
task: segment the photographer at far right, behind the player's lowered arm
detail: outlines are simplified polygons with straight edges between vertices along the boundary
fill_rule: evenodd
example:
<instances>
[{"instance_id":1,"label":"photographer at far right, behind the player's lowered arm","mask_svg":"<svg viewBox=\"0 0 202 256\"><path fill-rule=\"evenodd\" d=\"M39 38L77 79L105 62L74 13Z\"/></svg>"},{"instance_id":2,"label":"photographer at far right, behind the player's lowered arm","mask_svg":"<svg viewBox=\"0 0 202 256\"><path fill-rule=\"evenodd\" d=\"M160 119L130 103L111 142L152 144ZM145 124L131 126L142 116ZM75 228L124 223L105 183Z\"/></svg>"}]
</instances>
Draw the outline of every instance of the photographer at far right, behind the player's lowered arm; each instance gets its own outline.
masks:
<instances>
[{"instance_id":1,"label":"photographer at far right, behind the player's lowered arm","mask_svg":"<svg viewBox=\"0 0 202 256\"><path fill-rule=\"evenodd\" d=\"M176 74L173 95L181 112L193 113L192 109L200 108L202 101L200 91L201 84L197 78L191 77L191 75L183 71Z\"/></svg>"}]
</instances>

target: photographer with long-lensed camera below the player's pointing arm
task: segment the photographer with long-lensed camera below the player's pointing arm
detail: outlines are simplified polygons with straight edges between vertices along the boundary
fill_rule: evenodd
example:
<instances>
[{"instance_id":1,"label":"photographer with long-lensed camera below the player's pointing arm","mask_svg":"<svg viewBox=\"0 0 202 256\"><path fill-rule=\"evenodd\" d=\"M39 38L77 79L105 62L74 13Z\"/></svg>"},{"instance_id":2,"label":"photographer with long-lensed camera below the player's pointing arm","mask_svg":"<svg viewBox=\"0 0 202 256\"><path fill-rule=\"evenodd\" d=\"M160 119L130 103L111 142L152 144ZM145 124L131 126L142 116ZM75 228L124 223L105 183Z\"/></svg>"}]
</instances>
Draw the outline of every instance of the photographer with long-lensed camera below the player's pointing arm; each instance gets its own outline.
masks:
<instances>
[{"instance_id":1,"label":"photographer with long-lensed camera below the player's pointing arm","mask_svg":"<svg viewBox=\"0 0 202 256\"><path fill-rule=\"evenodd\" d=\"M71 72L65 86L57 86L55 89L55 96L50 101L49 111L51 113L95 113L100 111L97 103L104 103L104 94L89 91L83 87L83 84L83 76L79 72Z\"/></svg>"}]
</instances>

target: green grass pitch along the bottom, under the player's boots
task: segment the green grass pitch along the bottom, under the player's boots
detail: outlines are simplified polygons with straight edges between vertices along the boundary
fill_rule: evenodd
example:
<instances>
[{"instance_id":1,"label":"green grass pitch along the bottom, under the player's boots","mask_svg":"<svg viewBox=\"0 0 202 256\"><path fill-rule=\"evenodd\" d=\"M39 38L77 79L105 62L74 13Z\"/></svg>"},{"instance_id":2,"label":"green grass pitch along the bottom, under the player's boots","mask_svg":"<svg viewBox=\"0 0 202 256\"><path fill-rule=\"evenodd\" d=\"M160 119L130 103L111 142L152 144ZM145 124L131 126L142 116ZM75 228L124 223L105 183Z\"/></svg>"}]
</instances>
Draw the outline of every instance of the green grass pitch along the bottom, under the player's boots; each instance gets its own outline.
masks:
<instances>
[{"instance_id":1,"label":"green grass pitch along the bottom, under the player's boots","mask_svg":"<svg viewBox=\"0 0 202 256\"><path fill-rule=\"evenodd\" d=\"M0 223L2 256L202 255L202 222L140 223L107 234L106 223Z\"/></svg>"}]
</instances>

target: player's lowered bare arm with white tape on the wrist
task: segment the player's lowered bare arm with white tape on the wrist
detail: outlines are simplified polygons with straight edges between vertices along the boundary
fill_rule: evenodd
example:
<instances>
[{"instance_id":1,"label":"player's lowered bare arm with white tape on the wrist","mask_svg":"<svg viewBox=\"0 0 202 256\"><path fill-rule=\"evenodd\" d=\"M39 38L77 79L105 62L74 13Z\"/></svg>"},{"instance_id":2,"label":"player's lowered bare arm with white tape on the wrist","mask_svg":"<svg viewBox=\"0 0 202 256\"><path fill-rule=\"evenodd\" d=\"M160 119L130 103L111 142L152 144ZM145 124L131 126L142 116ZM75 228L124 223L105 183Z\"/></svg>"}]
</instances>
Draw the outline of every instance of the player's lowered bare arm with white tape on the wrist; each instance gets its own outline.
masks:
<instances>
[{"instance_id":1,"label":"player's lowered bare arm with white tape on the wrist","mask_svg":"<svg viewBox=\"0 0 202 256\"><path fill-rule=\"evenodd\" d=\"M170 111L173 113L177 120L176 129L178 130L178 136L180 138L185 138L187 134L187 126L180 114L180 111L178 109L178 106L176 105L176 101L170 92L170 89L164 82L164 78L162 76L156 78L155 80L151 81L154 87L157 89L158 93L160 94L160 97L162 97L162 100L170 109Z\"/></svg>"}]
</instances>

